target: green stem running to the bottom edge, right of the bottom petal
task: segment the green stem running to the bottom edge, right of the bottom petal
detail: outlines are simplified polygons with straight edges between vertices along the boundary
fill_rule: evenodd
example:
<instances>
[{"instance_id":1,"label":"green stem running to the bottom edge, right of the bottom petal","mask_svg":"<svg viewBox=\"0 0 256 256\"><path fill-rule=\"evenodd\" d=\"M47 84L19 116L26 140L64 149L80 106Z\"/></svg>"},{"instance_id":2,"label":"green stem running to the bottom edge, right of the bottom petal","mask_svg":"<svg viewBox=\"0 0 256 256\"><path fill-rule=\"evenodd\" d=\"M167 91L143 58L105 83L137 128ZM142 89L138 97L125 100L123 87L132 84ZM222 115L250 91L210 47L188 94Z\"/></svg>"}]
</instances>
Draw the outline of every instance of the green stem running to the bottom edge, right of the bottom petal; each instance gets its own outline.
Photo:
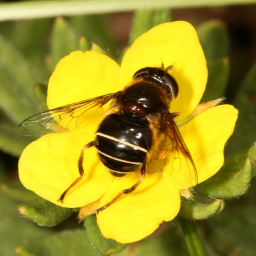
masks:
<instances>
[{"instance_id":1,"label":"green stem running to the bottom edge, right of the bottom petal","mask_svg":"<svg viewBox=\"0 0 256 256\"><path fill-rule=\"evenodd\" d=\"M195 222L180 216L179 221L190 255L205 256L204 248L196 230Z\"/></svg>"}]
</instances>

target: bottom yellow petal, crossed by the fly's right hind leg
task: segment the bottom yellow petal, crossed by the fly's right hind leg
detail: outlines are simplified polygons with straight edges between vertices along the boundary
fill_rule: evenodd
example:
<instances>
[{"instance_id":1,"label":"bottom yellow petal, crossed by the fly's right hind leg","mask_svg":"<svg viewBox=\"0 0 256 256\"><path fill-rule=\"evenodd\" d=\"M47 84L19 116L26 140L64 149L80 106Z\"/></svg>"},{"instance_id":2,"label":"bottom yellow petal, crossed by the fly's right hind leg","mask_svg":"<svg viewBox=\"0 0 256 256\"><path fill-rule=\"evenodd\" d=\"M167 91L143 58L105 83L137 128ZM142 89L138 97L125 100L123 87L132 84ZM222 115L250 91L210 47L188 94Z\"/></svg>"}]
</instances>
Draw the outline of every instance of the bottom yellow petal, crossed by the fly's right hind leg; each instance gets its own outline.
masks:
<instances>
[{"instance_id":1,"label":"bottom yellow petal, crossed by the fly's right hind leg","mask_svg":"<svg viewBox=\"0 0 256 256\"><path fill-rule=\"evenodd\" d=\"M135 191L99 212L97 222L103 236L120 243L132 243L154 232L163 221L175 218L180 209L179 190L173 189L170 181L162 174L147 174ZM117 193L130 188L138 179L139 172L116 178L100 200L99 206L107 204Z\"/></svg>"}]
</instances>

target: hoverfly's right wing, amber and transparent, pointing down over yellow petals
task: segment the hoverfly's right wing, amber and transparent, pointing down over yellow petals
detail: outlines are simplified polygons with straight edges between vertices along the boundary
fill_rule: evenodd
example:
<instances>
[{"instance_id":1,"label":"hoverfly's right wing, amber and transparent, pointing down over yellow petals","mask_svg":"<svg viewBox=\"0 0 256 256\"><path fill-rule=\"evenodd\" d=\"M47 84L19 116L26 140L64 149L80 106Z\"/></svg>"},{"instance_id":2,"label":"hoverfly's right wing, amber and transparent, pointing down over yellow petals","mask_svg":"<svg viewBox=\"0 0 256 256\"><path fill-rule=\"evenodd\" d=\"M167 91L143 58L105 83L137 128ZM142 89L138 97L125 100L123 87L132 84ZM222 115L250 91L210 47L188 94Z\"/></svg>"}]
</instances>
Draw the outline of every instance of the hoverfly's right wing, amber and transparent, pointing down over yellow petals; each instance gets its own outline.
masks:
<instances>
[{"instance_id":1,"label":"hoverfly's right wing, amber and transparent, pointing down over yellow petals","mask_svg":"<svg viewBox=\"0 0 256 256\"><path fill-rule=\"evenodd\" d=\"M173 115L164 113L161 125L164 129L163 150L169 163L166 172L179 189L195 186L198 183L196 166Z\"/></svg>"}]
</instances>

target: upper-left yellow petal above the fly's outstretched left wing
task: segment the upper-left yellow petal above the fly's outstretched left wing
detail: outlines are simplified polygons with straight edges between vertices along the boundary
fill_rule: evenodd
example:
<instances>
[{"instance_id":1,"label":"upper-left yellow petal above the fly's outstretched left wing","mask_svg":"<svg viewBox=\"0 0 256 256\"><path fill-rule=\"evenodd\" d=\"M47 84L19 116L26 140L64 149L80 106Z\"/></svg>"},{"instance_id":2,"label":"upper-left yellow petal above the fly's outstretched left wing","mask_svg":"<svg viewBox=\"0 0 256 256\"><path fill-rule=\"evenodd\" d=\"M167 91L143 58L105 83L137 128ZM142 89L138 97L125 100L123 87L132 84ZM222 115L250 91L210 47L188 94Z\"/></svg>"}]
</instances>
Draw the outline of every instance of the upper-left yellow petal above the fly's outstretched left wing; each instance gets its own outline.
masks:
<instances>
[{"instance_id":1,"label":"upper-left yellow petal above the fly's outstretched left wing","mask_svg":"<svg viewBox=\"0 0 256 256\"><path fill-rule=\"evenodd\" d=\"M74 51L60 60L49 80L49 109L118 91L119 66L97 51Z\"/></svg>"}]
</instances>

